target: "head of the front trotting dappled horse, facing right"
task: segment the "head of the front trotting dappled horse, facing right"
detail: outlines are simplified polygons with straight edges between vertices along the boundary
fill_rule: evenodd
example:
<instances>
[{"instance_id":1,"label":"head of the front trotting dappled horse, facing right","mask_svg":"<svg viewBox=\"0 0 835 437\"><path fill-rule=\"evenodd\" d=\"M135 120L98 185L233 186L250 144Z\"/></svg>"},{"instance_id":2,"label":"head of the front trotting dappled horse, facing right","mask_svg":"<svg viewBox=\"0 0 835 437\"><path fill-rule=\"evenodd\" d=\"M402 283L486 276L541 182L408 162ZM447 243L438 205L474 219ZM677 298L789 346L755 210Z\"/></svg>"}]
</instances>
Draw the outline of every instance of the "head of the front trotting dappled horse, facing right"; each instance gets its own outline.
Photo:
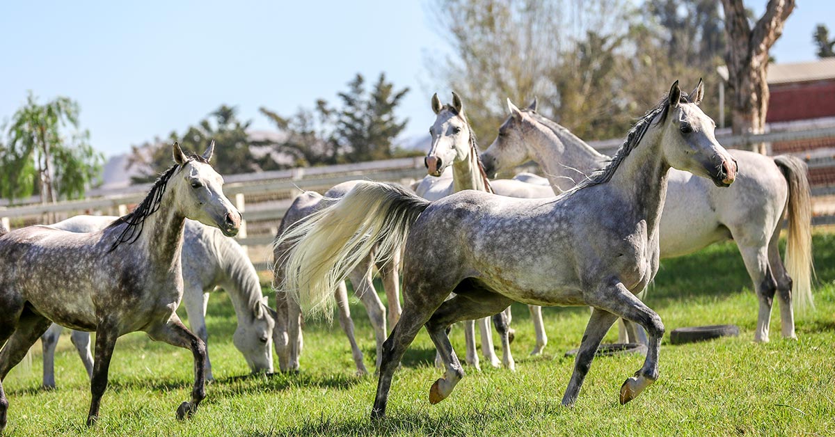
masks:
<instances>
[{"instance_id":1,"label":"head of the front trotting dappled horse, facing right","mask_svg":"<svg viewBox=\"0 0 835 437\"><path fill-rule=\"evenodd\" d=\"M706 177L716 186L728 186L736 179L736 160L716 141L716 123L699 108L703 94L704 85L699 82L686 99L681 99L678 82L673 84L661 147L673 168Z\"/></svg>"}]
</instances>

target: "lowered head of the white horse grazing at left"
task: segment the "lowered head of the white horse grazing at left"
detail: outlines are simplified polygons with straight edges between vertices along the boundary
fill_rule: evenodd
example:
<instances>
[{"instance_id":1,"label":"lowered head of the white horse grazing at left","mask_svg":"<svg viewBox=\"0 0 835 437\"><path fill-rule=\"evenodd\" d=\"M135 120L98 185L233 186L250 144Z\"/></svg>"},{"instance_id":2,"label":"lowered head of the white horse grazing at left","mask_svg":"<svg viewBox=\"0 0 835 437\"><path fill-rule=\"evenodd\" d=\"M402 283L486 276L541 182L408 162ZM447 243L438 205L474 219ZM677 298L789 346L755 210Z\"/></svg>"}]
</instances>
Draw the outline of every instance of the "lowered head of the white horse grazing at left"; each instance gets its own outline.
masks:
<instances>
[{"instance_id":1,"label":"lowered head of the white horse grazing at left","mask_svg":"<svg viewBox=\"0 0 835 437\"><path fill-rule=\"evenodd\" d=\"M248 323L238 323L232 343L249 364L252 373L272 373L272 333L276 318L266 297L256 304Z\"/></svg>"}]
</instances>

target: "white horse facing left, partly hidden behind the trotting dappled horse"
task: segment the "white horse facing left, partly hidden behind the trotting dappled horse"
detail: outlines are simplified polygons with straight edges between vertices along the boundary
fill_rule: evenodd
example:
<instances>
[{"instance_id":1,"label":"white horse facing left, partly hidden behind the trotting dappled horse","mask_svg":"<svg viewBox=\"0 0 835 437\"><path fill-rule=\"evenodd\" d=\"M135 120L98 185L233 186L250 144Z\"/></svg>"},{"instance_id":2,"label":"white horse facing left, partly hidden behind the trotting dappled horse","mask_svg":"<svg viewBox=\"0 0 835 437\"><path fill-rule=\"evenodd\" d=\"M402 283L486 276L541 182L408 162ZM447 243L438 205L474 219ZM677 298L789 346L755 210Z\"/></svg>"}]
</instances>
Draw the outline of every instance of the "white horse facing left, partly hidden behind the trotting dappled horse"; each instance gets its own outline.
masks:
<instances>
[{"instance_id":1,"label":"white horse facing left, partly hidden behind the trotting dappled horse","mask_svg":"<svg viewBox=\"0 0 835 437\"><path fill-rule=\"evenodd\" d=\"M482 160L489 174L536 161L554 187L602 168L600 155L563 126L536 112L536 101L510 116ZM754 340L768 341L772 302L780 301L784 338L794 332L792 302L812 305L812 206L806 165L788 155L774 158L729 150L741 171L730 190L685 171L670 170L667 201L660 221L660 257L680 257L718 241L733 240L760 301ZM778 246L783 216L788 217L786 265Z\"/></svg>"}]
</instances>

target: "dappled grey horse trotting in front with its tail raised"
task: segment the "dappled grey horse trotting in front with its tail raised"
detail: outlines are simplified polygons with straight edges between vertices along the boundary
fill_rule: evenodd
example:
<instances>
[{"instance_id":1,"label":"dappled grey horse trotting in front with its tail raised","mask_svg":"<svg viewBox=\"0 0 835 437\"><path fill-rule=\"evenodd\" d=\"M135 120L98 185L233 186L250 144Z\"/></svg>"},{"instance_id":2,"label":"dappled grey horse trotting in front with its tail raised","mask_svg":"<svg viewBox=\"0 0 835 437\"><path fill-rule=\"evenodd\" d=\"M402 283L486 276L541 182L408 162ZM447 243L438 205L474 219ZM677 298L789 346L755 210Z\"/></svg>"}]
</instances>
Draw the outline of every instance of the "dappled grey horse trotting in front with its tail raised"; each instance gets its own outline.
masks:
<instances>
[{"instance_id":1,"label":"dappled grey horse trotting in front with its tail raised","mask_svg":"<svg viewBox=\"0 0 835 437\"><path fill-rule=\"evenodd\" d=\"M301 307L326 308L339 281L372 247L384 259L403 253L403 313L383 347L372 418L385 415L392 374L426 326L447 364L429 401L463 377L447 337L450 323L498 313L511 302L594 307L562 403L574 404L600 340L617 318L643 326L645 362L620 389L635 399L658 378L664 325L635 297L658 270L658 222L670 167L731 185L736 163L716 142L714 123L696 105L700 85L678 81L641 118L605 170L561 196L516 199L461 191L428 202L397 186L366 182L287 231L293 243L286 290ZM364 214L363 214L364 213ZM456 294L447 300L451 292Z\"/></svg>"}]
</instances>

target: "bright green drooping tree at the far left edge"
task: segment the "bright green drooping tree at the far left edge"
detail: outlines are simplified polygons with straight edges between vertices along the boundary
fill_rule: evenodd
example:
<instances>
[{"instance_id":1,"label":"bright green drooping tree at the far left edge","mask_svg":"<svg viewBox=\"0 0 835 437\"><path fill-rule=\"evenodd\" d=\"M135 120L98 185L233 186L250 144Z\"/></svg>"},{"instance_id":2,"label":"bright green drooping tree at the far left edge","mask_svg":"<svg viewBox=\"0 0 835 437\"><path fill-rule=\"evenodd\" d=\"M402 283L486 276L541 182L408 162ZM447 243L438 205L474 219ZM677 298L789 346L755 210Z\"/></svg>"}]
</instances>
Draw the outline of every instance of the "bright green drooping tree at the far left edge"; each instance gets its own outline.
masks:
<instances>
[{"instance_id":1,"label":"bright green drooping tree at the far left edge","mask_svg":"<svg viewBox=\"0 0 835 437\"><path fill-rule=\"evenodd\" d=\"M89 145L89 131L78 130L79 112L68 97L38 104L29 92L0 145L0 195L14 201L38 188L44 202L83 196L99 179L104 155Z\"/></svg>"}]
</instances>

